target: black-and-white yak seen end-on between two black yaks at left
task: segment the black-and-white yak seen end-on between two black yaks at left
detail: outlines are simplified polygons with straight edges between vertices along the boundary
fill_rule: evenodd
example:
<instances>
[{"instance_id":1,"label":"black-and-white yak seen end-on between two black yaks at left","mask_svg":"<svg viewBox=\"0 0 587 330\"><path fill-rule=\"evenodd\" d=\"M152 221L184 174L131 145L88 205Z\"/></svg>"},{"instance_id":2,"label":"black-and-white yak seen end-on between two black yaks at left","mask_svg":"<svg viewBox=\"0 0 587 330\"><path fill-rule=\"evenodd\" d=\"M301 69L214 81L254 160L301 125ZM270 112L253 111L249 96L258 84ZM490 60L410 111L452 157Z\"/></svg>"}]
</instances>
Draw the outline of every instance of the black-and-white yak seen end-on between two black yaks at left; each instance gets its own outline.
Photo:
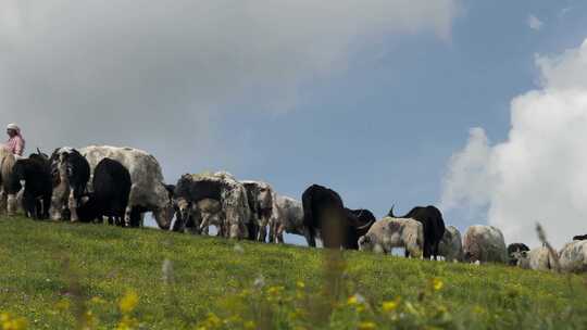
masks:
<instances>
[{"instance_id":1,"label":"black-and-white yak seen end-on between two black yaks at left","mask_svg":"<svg viewBox=\"0 0 587 330\"><path fill-rule=\"evenodd\" d=\"M77 221L77 207L90 178L89 163L79 151L68 147L55 149L50 163L53 178L51 218L63 219L62 212L67 211L70 219Z\"/></svg>"}]
</instances>

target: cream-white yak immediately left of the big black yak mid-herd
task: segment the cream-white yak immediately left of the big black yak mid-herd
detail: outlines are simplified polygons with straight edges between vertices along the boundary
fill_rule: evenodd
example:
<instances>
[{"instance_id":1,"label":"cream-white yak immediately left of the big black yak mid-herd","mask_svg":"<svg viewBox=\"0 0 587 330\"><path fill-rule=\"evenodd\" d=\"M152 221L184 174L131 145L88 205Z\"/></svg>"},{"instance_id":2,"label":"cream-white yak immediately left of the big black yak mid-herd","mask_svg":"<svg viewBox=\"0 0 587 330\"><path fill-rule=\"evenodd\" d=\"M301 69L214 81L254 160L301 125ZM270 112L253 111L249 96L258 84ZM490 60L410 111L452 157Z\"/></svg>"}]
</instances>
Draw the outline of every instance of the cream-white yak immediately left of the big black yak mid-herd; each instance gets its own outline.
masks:
<instances>
[{"instance_id":1,"label":"cream-white yak immediately left of the big black yak mid-herd","mask_svg":"<svg viewBox=\"0 0 587 330\"><path fill-rule=\"evenodd\" d=\"M309 237L308 227L303 225L302 203L292 198L277 195L270 220L270 242L284 243L284 232Z\"/></svg>"}]
</instances>

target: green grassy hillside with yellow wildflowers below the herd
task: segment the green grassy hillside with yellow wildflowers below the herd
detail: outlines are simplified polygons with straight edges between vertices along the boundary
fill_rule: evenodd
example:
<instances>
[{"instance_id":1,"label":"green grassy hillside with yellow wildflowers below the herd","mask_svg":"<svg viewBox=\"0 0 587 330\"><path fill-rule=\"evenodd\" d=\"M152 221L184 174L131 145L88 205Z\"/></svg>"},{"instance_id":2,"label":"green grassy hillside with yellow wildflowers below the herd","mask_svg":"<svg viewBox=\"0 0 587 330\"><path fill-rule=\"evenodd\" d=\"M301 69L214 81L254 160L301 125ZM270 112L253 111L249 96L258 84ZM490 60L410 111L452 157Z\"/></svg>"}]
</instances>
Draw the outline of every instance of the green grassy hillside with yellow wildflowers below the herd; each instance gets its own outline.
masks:
<instances>
[{"instance_id":1,"label":"green grassy hillside with yellow wildflowers below the herd","mask_svg":"<svg viewBox=\"0 0 587 330\"><path fill-rule=\"evenodd\" d=\"M587 329L587 278L0 219L0 329Z\"/></svg>"}]
</instances>

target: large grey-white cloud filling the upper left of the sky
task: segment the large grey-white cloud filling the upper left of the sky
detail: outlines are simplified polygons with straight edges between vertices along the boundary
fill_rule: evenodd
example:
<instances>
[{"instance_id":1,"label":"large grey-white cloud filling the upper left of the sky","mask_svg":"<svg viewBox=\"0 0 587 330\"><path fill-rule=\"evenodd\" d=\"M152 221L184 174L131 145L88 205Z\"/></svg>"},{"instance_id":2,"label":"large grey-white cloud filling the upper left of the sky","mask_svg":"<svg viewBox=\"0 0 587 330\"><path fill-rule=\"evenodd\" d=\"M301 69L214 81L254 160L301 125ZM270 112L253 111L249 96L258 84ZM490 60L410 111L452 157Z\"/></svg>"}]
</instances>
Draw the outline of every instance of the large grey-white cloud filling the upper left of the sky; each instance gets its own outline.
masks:
<instances>
[{"instance_id":1,"label":"large grey-white cloud filling the upper left of the sky","mask_svg":"<svg viewBox=\"0 0 587 330\"><path fill-rule=\"evenodd\" d=\"M457 2L0 0L0 117L30 148L189 150L195 166L224 109L287 111L300 84L388 34L448 38Z\"/></svg>"}]
</instances>

